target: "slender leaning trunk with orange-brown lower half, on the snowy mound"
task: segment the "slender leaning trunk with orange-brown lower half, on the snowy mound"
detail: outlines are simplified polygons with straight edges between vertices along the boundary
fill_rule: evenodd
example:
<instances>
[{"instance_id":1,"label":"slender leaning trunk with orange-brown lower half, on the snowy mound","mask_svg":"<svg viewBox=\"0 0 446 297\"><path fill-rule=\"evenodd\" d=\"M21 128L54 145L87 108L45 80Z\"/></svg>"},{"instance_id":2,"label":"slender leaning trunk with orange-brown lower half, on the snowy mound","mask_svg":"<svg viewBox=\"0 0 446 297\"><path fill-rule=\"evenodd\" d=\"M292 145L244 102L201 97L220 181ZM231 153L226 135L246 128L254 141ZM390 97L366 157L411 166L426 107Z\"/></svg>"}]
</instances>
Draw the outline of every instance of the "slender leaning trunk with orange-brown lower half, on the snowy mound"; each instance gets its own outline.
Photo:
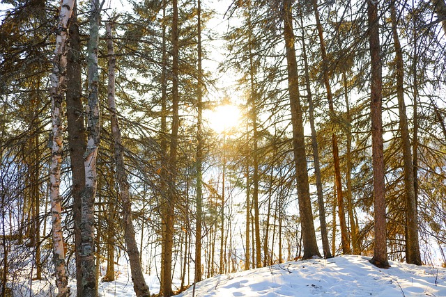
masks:
<instances>
[{"instance_id":1,"label":"slender leaning trunk with orange-brown lower half, on the snowy mound","mask_svg":"<svg viewBox=\"0 0 446 297\"><path fill-rule=\"evenodd\" d=\"M327 90L327 99L328 99L328 107L330 109L330 122L334 125L334 106L333 106L333 95L332 88L330 86L330 77L328 74L328 60L327 60L327 52L325 50L325 41L323 39L323 30L322 24L319 17L319 11L317 6L317 0L312 0L314 15L316 17L316 27L318 29L319 42L321 46L321 56L322 56L322 68L323 68L323 82L325 84L325 89ZM339 207L339 225L341 225L341 244L342 244L342 252L344 254L351 254L350 248L350 240L348 239L348 231L346 224L346 217L344 213L344 198L342 196L342 180L341 180L341 166L339 165L339 150L337 144L337 136L334 134L334 127L332 127L332 153L333 153L333 162L334 162L334 179L336 181L336 189L337 189L337 202Z\"/></svg>"}]
</instances>

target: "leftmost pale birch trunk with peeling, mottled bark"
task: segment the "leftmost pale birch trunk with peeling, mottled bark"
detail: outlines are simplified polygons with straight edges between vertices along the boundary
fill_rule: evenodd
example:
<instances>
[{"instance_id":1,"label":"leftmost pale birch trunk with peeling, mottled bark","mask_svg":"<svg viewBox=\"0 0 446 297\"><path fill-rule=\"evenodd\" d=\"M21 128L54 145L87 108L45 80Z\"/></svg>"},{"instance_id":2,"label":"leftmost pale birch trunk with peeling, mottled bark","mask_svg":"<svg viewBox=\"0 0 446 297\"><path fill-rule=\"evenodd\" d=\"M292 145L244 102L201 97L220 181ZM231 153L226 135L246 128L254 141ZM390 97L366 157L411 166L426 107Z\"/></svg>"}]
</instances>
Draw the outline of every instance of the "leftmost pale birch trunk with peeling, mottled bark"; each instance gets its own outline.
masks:
<instances>
[{"instance_id":1,"label":"leftmost pale birch trunk with peeling, mottled bark","mask_svg":"<svg viewBox=\"0 0 446 297\"><path fill-rule=\"evenodd\" d=\"M50 200L53 230L53 261L56 269L56 287L58 296L70 296L66 273L65 252L62 234L62 198L60 195L62 143L63 143L63 91L66 76L66 40L68 38L68 20L72 14L74 0L63 0L59 12L59 24L56 30L56 49L54 51L53 72L51 75L51 115L52 115L52 161L49 172Z\"/></svg>"}]
</instances>

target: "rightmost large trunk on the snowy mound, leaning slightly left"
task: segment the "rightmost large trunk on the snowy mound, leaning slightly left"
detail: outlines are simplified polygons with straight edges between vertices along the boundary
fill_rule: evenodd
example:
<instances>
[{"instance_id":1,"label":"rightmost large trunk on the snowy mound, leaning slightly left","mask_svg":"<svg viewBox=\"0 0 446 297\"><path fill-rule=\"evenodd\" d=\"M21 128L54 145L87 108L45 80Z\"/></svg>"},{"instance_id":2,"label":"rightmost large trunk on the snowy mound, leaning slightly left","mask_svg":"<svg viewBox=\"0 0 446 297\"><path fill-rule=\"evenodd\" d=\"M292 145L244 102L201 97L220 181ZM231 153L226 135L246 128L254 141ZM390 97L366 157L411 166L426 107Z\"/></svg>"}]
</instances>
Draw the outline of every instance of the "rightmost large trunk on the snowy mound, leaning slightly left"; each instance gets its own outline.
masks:
<instances>
[{"instance_id":1,"label":"rightmost large trunk on the snowy mound, leaning slightly left","mask_svg":"<svg viewBox=\"0 0 446 297\"><path fill-rule=\"evenodd\" d=\"M412 153L410 152L410 134L404 103L404 64L403 51L397 31L397 13L391 3L392 35L395 47L395 74L397 76L397 97L399 111L399 129L403 146L404 192L406 194L406 262L421 265L420 245L418 243L418 211L413 181Z\"/></svg>"}]
</instances>

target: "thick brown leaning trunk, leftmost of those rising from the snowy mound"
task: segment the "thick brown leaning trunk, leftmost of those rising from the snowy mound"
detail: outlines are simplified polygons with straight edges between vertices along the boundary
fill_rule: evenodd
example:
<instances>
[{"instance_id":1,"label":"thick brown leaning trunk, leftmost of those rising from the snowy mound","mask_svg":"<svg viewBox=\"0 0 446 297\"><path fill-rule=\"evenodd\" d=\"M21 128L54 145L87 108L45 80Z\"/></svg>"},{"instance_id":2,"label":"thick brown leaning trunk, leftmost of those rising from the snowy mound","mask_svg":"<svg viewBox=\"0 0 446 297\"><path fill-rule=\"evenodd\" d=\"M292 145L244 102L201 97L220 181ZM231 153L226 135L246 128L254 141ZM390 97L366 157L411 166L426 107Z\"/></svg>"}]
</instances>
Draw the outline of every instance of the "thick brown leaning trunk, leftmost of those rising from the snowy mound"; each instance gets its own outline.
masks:
<instances>
[{"instance_id":1,"label":"thick brown leaning trunk, leftmost of those rising from the snowy mound","mask_svg":"<svg viewBox=\"0 0 446 297\"><path fill-rule=\"evenodd\" d=\"M293 152L295 172L298 184L299 212L302 226L302 241L304 246L303 259L321 257L314 232L312 202L309 195L307 158L305 152L305 137L303 128L302 108L298 86L298 65L295 56L295 37L293 33L293 16L291 0L284 1L284 39L286 46L286 61L288 70L289 96L291 106L291 124L293 126Z\"/></svg>"}]
</instances>

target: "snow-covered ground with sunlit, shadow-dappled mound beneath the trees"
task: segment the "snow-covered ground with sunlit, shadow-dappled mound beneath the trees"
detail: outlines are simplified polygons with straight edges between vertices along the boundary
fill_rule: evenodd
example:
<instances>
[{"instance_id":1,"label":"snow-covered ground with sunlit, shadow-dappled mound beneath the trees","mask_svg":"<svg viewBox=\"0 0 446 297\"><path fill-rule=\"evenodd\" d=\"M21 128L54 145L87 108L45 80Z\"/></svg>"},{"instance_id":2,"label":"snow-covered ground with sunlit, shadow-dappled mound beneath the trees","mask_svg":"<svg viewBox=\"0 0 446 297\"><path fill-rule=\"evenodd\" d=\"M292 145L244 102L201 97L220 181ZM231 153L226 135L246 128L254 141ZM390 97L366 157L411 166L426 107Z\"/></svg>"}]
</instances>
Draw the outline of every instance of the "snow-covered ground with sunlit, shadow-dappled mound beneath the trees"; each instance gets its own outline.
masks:
<instances>
[{"instance_id":1,"label":"snow-covered ground with sunlit, shadow-dappled mound beneath the trees","mask_svg":"<svg viewBox=\"0 0 446 297\"><path fill-rule=\"evenodd\" d=\"M381 269L361 256L287 262L251 271L217 275L195 288L197 297L229 296L436 296L446 297L446 268L390 262ZM151 293L157 280L147 278ZM134 296L128 275L100 283L102 296ZM178 297L192 297L193 287Z\"/></svg>"}]
</instances>

